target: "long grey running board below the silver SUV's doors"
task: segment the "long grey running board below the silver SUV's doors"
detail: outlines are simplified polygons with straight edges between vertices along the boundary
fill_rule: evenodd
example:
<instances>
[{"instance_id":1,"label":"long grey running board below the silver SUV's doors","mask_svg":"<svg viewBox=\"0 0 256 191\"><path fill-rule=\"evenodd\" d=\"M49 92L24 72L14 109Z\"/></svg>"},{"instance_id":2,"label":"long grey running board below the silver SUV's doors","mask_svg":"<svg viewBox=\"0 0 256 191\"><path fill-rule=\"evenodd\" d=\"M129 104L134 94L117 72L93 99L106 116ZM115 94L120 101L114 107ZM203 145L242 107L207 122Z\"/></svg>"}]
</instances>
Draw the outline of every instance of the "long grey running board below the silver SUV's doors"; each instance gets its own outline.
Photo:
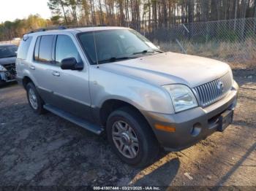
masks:
<instances>
[{"instance_id":1,"label":"long grey running board below the silver SUV's doors","mask_svg":"<svg viewBox=\"0 0 256 191\"><path fill-rule=\"evenodd\" d=\"M52 112L53 114L58 115L59 117L64 118L65 120L69 120L70 122L75 123L76 125L85 128L86 130L90 130L93 133L99 135L102 133L103 129L99 127L99 125L94 125L91 122L87 122L86 120L81 119L80 117L75 117L68 112L64 112L61 109L56 108L55 106L51 106L49 104L44 105L44 109Z\"/></svg>"}]
</instances>

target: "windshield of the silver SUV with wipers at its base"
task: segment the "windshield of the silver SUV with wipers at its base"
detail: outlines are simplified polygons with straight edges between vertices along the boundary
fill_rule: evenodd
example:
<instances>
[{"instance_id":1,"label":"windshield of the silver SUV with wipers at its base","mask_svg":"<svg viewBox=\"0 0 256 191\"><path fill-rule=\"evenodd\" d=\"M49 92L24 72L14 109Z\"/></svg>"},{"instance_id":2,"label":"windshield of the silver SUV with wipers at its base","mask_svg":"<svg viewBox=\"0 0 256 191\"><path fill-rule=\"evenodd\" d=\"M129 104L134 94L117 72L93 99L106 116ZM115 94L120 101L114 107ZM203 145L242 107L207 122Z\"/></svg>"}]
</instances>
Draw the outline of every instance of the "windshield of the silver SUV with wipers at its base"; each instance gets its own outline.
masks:
<instances>
[{"instance_id":1,"label":"windshield of the silver SUV with wipers at its base","mask_svg":"<svg viewBox=\"0 0 256 191\"><path fill-rule=\"evenodd\" d=\"M132 29L80 33L78 39L92 64L97 63L94 36L99 63L138 58L146 54L161 52L148 39Z\"/></svg>"}]
</instances>

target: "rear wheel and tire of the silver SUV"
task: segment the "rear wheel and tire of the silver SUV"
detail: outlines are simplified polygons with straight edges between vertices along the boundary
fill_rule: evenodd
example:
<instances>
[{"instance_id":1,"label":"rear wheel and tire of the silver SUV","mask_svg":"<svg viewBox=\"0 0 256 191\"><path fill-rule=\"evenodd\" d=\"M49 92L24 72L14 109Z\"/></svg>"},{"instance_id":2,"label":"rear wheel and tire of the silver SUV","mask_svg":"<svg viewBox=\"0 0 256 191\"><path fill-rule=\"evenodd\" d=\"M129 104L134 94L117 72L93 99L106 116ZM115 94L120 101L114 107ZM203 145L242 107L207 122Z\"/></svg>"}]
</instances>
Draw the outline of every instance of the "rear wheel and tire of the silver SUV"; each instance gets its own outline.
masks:
<instances>
[{"instance_id":1,"label":"rear wheel and tire of the silver SUV","mask_svg":"<svg viewBox=\"0 0 256 191\"><path fill-rule=\"evenodd\" d=\"M31 93L33 95L31 95ZM42 101L42 98L39 96L36 87L32 82L29 82L26 85L26 96L29 101L29 106L33 111L37 114L44 114L45 109L43 109L44 101ZM31 99L34 101L32 102Z\"/></svg>"}]
</instances>

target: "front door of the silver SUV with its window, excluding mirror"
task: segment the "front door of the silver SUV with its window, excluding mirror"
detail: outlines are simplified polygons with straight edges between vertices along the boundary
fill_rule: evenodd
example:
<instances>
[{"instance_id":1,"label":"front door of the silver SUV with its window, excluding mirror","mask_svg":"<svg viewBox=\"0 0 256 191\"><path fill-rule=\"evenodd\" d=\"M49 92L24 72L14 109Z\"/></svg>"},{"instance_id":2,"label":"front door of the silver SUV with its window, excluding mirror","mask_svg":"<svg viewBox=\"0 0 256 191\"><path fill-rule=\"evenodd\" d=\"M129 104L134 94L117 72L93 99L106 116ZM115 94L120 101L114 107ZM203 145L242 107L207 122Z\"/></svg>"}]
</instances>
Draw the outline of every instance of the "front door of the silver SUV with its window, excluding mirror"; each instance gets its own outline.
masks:
<instances>
[{"instance_id":1,"label":"front door of the silver SUV with its window, excluding mirror","mask_svg":"<svg viewBox=\"0 0 256 191\"><path fill-rule=\"evenodd\" d=\"M55 42L55 67L50 71L50 87L53 90L53 105L78 117L92 120L91 99L89 95L89 70L83 60L75 36L58 35ZM65 58L75 58L83 69L62 70L61 61Z\"/></svg>"}]
</instances>

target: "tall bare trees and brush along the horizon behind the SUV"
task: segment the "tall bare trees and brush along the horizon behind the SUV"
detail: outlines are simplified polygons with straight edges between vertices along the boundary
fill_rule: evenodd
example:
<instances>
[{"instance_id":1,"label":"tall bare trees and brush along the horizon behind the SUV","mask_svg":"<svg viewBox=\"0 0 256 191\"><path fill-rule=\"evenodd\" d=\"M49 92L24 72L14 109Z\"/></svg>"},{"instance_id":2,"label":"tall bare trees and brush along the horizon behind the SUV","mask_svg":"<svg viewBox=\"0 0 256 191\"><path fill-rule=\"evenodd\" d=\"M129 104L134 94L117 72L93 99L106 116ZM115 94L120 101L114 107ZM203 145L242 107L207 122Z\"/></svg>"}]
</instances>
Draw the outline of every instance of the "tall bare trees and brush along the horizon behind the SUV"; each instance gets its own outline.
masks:
<instances>
[{"instance_id":1,"label":"tall bare trees and brush along the horizon behind the SUV","mask_svg":"<svg viewBox=\"0 0 256 191\"><path fill-rule=\"evenodd\" d=\"M51 25L166 28L181 23L256 17L256 0L49 0L50 20L39 15L0 24L0 40Z\"/></svg>"}]
</instances>

